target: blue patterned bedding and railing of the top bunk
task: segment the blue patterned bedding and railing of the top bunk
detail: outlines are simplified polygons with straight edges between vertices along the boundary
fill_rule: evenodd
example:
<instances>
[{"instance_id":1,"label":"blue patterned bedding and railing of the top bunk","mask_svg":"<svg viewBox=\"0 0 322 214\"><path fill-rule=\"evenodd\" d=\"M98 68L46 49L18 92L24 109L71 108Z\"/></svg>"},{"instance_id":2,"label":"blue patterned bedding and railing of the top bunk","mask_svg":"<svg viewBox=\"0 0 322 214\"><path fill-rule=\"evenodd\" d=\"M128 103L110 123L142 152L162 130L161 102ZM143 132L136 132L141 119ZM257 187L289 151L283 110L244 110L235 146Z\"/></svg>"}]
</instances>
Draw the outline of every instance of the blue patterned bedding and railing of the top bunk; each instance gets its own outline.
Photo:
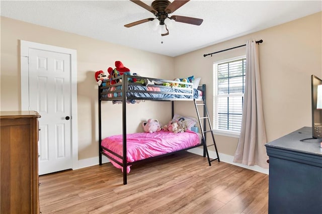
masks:
<instances>
[{"instance_id":1,"label":"blue patterned bedding and railing of the top bunk","mask_svg":"<svg viewBox=\"0 0 322 214\"><path fill-rule=\"evenodd\" d=\"M135 78L136 82L130 81ZM127 81L124 81L127 80ZM99 87L101 100L193 100L202 99L202 91L190 82L122 75L117 83L103 82ZM126 97L123 97L126 94Z\"/></svg>"}]
</instances>

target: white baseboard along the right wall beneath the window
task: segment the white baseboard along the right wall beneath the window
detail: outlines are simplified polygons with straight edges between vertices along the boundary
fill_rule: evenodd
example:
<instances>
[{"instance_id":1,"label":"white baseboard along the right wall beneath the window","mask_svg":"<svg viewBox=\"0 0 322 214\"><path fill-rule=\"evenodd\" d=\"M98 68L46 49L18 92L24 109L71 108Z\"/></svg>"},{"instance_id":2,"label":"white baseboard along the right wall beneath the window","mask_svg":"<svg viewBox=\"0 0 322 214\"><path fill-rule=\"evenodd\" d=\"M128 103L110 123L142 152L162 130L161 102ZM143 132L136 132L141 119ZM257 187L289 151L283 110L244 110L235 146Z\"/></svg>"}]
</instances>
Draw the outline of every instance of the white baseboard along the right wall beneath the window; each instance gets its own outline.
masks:
<instances>
[{"instance_id":1,"label":"white baseboard along the right wall beneath the window","mask_svg":"<svg viewBox=\"0 0 322 214\"><path fill-rule=\"evenodd\" d=\"M201 155L201 156L203 155L203 149L202 148L193 148L193 149L188 150L188 152L191 152L191 153L194 153L194 154L197 154L197 155ZM208 150L208 153L209 153L209 157L211 159L217 158L217 155L216 155L215 151L209 151ZM222 153L218 153L218 154L219 154L219 159L222 162L229 163L229 164L239 166L239 167L243 167L243 168L246 168L246 169L251 169L253 171L261 172L261 173L264 173L264 174L269 174L269 169L265 169L265 168L262 168L262 167L257 166L257 165L255 165L255 166L247 166L247 165L244 165L244 164L241 164L241 163L234 163L233 162L233 156L222 154Z\"/></svg>"}]
</instances>

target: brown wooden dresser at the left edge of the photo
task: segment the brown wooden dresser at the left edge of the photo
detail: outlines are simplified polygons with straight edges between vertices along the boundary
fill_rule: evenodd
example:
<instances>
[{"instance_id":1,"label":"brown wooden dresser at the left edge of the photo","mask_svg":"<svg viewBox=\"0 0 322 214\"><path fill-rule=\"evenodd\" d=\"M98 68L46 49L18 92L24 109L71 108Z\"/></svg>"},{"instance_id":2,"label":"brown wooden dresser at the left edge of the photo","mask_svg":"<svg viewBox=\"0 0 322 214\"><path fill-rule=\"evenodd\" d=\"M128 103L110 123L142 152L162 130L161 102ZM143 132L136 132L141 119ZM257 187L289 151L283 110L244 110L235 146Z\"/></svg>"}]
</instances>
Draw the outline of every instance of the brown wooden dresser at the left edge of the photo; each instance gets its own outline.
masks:
<instances>
[{"instance_id":1,"label":"brown wooden dresser at the left edge of the photo","mask_svg":"<svg viewBox=\"0 0 322 214\"><path fill-rule=\"evenodd\" d=\"M34 111L0 112L0 213L39 213L38 118Z\"/></svg>"}]
</instances>

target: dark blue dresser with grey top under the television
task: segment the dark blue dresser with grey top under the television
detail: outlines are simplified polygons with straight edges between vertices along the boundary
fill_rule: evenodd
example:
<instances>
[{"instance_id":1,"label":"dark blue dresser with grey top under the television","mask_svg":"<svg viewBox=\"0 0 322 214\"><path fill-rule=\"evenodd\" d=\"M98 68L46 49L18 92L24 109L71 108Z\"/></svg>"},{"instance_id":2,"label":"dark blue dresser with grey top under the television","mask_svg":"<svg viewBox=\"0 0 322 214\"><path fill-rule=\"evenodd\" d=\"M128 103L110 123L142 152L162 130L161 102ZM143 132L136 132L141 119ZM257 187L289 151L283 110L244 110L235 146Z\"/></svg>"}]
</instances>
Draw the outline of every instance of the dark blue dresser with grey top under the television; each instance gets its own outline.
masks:
<instances>
[{"instance_id":1,"label":"dark blue dresser with grey top under the television","mask_svg":"<svg viewBox=\"0 0 322 214\"><path fill-rule=\"evenodd\" d=\"M265 145L270 214L322 213L322 139L311 137L312 128L303 127Z\"/></svg>"}]
</instances>

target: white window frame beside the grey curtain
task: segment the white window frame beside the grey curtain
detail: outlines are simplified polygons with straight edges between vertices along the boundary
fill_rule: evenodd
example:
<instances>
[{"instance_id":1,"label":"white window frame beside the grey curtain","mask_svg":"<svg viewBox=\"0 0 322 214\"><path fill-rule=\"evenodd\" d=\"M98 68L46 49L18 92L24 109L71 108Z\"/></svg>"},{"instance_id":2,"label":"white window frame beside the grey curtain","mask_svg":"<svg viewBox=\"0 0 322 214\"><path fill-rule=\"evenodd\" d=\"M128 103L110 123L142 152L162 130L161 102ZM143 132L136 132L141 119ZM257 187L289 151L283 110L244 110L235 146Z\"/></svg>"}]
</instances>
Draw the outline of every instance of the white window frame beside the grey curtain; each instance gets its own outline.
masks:
<instances>
[{"instance_id":1,"label":"white window frame beside the grey curtain","mask_svg":"<svg viewBox=\"0 0 322 214\"><path fill-rule=\"evenodd\" d=\"M233 58L228 58L228 59L223 59L220 61L216 61L213 63L213 133L216 135L222 135L222 136L227 136L227 137L234 137L234 138L239 138L240 132L238 131L231 131L231 130L222 130L218 129L218 105L217 105L217 100L218 100L218 64L225 63L225 62L230 62L230 61L236 61L236 60L241 60L241 59L246 59L246 55L241 55ZM244 93L245 94L245 85L244 85ZM230 96L239 96L239 94L231 94Z\"/></svg>"}]
</instances>

